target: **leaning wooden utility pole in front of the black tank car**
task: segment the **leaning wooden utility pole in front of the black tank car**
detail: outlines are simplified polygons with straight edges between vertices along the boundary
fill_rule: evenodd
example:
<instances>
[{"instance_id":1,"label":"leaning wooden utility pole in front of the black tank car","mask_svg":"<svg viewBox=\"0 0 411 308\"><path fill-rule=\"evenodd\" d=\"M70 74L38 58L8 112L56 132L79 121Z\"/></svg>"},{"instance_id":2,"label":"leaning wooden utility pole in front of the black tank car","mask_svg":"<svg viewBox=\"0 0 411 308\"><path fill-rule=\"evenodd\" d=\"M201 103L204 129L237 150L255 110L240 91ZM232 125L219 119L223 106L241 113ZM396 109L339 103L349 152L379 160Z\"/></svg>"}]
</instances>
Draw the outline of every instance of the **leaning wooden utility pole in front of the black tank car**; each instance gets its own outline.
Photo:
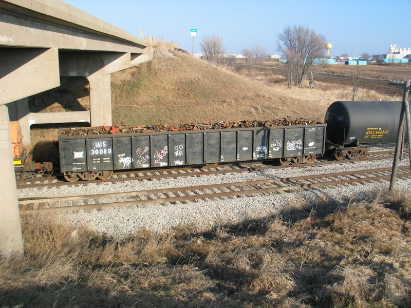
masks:
<instances>
[{"instance_id":1,"label":"leaning wooden utility pole in front of the black tank car","mask_svg":"<svg viewBox=\"0 0 411 308\"><path fill-rule=\"evenodd\" d=\"M391 84L391 83L390 83ZM395 84L401 85L404 87L404 97L402 100L401 106L401 113L400 113L400 123L398 126L398 137L397 137L397 145L395 147L395 155L394 155L394 162L393 162L393 169L391 171L391 181L389 183L389 192L392 193L395 190L395 180L397 178L397 170L398 170L398 163L400 158L400 153L402 152L402 141L403 141L403 130L404 130L404 120L407 123L407 138L408 138L408 156L409 162L411 166L411 123L409 118L409 104L408 104L408 92L409 92L409 85L410 81L407 80L405 84Z\"/></svg>"}]
</instances>

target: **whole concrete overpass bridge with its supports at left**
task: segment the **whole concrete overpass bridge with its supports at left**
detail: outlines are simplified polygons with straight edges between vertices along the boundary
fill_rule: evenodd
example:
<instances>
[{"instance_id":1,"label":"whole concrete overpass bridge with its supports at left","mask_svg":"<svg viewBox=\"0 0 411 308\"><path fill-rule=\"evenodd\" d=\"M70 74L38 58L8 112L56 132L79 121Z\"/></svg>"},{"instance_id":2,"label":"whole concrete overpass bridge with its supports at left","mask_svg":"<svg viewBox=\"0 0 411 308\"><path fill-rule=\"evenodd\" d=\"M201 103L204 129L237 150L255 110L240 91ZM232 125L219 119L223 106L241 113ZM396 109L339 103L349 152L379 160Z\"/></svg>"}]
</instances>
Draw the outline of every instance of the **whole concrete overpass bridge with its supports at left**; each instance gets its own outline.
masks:
<instances>
[{"instance_id":1,"label":"whole concrete overpass bridge with its supports at left","mask_svg":"<svg viewBox=\"0 0 411 308\"><path fill-rule=\"evenodd\" d=\"M110 74L152 56L140 38L60 0L0 0L0 254L23 251L9 121L20 122L25 144L32 124L111 125ZM64 76L87 79L90 109L30 112L28 98Z\"/></svg>"}]
</instances>

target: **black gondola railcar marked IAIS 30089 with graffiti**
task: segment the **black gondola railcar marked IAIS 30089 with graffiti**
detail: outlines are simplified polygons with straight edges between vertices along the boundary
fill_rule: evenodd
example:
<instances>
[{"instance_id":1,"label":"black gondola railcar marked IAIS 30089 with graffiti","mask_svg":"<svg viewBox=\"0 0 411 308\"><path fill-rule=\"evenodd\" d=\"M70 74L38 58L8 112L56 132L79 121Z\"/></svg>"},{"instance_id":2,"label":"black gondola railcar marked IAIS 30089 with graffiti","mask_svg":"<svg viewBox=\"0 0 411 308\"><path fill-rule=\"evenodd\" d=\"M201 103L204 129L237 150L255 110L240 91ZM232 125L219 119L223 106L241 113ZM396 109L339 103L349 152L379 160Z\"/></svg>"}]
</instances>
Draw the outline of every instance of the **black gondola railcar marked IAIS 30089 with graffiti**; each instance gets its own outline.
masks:
<instances>
[{"instance_id":1,"label":"black gondola railcar marked IAIS 30089 with graffiti","mask_svg":"<svg viewBox=\"0 0 411 308\"><path fill-rule=\"evenodd\" d=\"M222 162L313 162L325 148L326 124L192 131L62 136L61 171L67 181L108 179L113 170ZM69 128L67 128L69 129Z\"/></svg>"}]
</instances>

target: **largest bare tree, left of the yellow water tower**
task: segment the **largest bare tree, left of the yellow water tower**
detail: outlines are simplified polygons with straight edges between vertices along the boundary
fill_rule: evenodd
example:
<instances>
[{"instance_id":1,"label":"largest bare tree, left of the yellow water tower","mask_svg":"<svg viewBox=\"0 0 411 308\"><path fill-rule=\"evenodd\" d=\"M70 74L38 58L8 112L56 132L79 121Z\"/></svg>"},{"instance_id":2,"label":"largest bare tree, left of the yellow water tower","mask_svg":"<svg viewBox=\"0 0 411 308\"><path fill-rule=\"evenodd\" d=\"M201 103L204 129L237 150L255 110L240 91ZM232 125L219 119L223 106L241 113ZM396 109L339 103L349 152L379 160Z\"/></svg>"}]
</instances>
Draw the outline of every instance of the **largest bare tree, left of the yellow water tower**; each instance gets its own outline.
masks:
<instances>
[{"instance_id":1,"label":"largest bare tree, left of the yellow water tower","mask_svg":"<svg viewBox=\"0 0 411 308\"><path fill-rule=\"evenodd\" d=\"M324 57L326 38L303 26L286 27L278 35L278 51L287 59L288 87L301 85L314 59Z\"/></svg>"}]
</instances>

